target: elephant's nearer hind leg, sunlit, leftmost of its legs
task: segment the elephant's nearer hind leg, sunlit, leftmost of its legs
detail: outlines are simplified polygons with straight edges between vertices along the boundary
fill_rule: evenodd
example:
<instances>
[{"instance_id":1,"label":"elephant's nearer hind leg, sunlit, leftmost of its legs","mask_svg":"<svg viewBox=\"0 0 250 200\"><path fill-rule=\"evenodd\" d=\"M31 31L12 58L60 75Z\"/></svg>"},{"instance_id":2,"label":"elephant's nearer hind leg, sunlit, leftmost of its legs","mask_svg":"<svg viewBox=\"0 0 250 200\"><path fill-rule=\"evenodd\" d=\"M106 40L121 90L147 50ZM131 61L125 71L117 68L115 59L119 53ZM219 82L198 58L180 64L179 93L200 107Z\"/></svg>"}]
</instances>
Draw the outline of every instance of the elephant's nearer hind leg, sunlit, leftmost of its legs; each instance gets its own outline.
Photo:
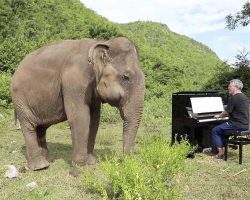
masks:
<instances>
[{"instance_id":1,"label":"elephant's nearer hind leg, sunlit, leftmost of its legs","mask_svg":"<svg viewBox=\"0 0 250 200\"><path fill-rule=\"evenodd\" d=\"M31 170L47 168L49 162L44 157L38 143L37 131L29 123L21 122L21 129L25 138L28 166Z\"/></svg>"}]
</instances>

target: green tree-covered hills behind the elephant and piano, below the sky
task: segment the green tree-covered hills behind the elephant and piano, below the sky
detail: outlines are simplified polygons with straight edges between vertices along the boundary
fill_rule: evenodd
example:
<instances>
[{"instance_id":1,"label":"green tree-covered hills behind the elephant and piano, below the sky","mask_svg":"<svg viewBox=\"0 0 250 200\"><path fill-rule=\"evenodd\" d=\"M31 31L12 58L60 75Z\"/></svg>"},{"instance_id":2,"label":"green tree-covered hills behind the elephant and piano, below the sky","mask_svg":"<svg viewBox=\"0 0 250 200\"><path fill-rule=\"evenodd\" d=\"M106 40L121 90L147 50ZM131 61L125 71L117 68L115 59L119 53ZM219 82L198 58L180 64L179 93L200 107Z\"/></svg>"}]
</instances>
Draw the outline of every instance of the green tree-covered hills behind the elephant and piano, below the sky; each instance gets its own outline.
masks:
<instances>
[{"instance_id":1,"label":"green tree-covered hills behind the elephant and piano, below the sky","mask_svg":"<svg viewBox=\"0 0 250 200\"><path fill-rule=\"evenodd\" d=\"M170 114L166 110L170 110L172 92L222 89L235 75L207 46L164 24L112 23L79 0L1 0L0 107L11 106L10 77L29 52L62 39L118 35L127 36L139 48L146 75L145 111L154 112L154 119Z\"/></svg>"}]
</instances>

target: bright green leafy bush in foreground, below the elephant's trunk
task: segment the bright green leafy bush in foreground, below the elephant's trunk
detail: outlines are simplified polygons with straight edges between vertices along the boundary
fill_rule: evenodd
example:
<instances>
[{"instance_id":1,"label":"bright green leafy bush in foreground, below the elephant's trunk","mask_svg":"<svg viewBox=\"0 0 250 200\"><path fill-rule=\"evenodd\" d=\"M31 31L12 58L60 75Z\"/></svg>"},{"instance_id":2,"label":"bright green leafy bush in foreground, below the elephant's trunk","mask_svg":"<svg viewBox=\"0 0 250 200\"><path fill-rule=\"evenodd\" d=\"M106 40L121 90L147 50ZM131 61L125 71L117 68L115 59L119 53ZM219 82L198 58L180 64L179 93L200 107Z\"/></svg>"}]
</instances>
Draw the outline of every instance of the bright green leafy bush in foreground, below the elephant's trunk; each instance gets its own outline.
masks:
<instances>
[{"instance_id":1,"label":"bright green leafy bush in foreground, below the elephant's trunk","mask_svg":"<svg viewBox=\"0 0 250 200\"><path fill-rule=\"evenodd\" d=\"M191 150L186 142L170 146L162 136L146 136L138 154L119 159L106 158L100 164L103 176L86 172L84 187L103 199L175 199L180 196L180 177L185 157Z\"/></svg>"}]
</instances>

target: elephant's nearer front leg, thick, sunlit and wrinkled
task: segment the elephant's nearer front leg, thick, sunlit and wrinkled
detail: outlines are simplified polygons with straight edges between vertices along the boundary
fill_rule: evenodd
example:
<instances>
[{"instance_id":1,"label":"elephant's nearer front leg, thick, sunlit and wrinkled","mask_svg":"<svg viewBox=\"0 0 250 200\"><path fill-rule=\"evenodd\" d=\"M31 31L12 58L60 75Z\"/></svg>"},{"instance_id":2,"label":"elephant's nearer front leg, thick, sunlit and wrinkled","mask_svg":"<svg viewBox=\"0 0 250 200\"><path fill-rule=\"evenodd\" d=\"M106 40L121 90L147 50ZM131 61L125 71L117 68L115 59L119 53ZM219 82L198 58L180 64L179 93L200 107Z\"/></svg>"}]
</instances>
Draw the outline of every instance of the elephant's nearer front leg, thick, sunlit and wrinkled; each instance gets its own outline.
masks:
<instances>
[{"instance_id":1,"label":"elephant's nearer front leg, thick, sunlit and wrinkled","mask_svg":"<svg viewBox=\"0 0 250 200\"><path fill-rule=\"evenodd\" d=\"M69 121L73 144L73 162L79 165L87 163L87 145L90 126L89 106L82 99L65 101L66 115Z\"/></svg>"}]
</instances>

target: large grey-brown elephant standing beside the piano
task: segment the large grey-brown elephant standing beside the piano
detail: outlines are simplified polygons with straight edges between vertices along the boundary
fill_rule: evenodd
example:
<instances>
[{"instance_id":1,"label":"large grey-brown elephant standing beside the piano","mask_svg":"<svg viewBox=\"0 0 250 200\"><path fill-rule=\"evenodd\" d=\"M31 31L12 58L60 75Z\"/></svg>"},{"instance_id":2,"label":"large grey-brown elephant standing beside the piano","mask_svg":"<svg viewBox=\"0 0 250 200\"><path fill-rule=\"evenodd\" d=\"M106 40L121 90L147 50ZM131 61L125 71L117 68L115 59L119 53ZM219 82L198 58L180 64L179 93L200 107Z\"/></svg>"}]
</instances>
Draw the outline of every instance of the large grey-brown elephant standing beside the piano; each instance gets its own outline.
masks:
<instances>
[{"instance_id":1,"label":"large grey-brown elephant standing beside the piano","mask_svg":"<svg viewBox=\"0 0 250 200\"><path fill-rule=\"evenodd\" d=\"M63 40L29 53L11 80L11 96L31 170L49 167L53 157L46 130L68 120L72 163L96 163L93 153L102 103L117 107L123 121L123 152L132 152L140 126L145 76L134 43Z\"/></svg>"}]
</instances>

